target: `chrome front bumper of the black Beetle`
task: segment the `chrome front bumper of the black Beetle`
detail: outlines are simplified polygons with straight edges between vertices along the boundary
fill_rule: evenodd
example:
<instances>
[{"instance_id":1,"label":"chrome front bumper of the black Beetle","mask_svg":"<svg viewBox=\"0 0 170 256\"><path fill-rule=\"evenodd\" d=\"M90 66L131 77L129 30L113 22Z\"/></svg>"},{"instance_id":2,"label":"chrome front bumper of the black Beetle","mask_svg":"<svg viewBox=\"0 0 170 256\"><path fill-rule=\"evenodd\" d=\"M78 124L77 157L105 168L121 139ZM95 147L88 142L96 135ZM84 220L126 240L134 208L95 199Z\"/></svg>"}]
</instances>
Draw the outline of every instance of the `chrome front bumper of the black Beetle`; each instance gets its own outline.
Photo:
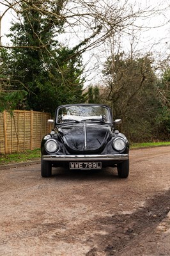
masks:
<instances>
[{"instance_id":1,"label":"chrome front bumper of the black Beetle","mask_svg":"<svg viewBox=\"0 0 170 256\"><path fill-rule=\"evenodd\" d=\"M43 155L45 161L118 161L128 160L128 154L114 155Z\"/></svg>"}]
</instances>

